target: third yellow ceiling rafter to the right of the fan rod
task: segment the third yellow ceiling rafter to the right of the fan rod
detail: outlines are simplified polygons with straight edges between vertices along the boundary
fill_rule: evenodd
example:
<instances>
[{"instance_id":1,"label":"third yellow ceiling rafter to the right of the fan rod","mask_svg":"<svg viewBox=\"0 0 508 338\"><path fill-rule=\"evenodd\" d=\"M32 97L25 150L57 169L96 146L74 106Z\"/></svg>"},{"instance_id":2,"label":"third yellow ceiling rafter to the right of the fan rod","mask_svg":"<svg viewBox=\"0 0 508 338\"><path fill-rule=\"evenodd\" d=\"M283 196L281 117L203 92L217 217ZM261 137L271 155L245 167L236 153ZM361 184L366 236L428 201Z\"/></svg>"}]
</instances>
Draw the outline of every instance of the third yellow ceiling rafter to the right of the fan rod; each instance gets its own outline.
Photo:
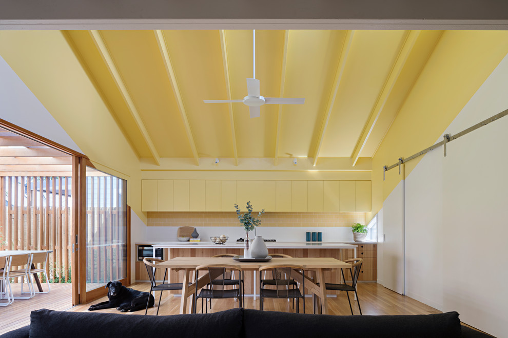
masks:
<instances>
[{"instance_id":1,"label":"third yellow ceiling rafter to the right of the fan rod","mask_svg":"<svg viewBox=\"0 0 508 338\"><path fill-rule=\"evenodd\" d=\"M400 49L399 55L397 56L397 59L394 62L392 70L390 71L388 77L386 78L384 86L381 89L381 92L379 93L378 99L376 100L376 104L374 105L372 111L370 111L370 115L367 124L363 129L362 136L360 137L360 139L356 144L353 156L351 156L351 159L353 159L353 166L356 165L356 162L360 158L360 154L362 153L365 144L367 144L367 140L370 134L374 130L374 126L376 125L376 122L378 121L379 116L383 111L384 104L386 103L386 100L390 96L390 93L392 93L392 89L394 88L395 83L399 78L400 72L407 61L407 57L409 56L409 54L413 50L413 47L415 46L416 40L419 35L420 31L408 31L406 33L404 43Z\"/></svg>"}]
</instances>

